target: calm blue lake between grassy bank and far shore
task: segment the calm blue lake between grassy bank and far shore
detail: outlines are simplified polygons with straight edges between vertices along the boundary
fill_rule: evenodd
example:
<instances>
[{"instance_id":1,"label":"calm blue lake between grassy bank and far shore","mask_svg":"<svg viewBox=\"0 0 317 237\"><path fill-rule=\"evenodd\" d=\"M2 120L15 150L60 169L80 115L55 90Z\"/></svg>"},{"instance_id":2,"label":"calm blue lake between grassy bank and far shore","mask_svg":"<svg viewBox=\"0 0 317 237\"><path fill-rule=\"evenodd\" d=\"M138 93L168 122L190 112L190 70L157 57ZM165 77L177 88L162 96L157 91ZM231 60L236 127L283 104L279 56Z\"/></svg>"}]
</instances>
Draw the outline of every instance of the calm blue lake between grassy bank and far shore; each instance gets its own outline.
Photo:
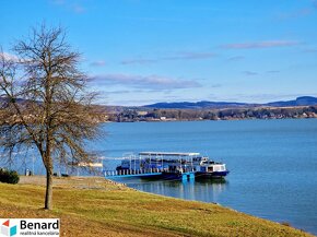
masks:
<instances>
[{"instance_id":1,"label":"calm blue lake between grassy bank and far shore","mask_svg":"<svg viewBox=\"0 0 317 237\"><path fill-rule=\"evenodd\" d=\"M216 202L317 235L317 119L105 123L90 146L106 157L141 151L200 152L224 162L225 181L121 179L163 195ZM33 155L17 167L44 174ZM28 159L28 161L27 161ZM119 161L105 162L111 169Z\"/></svg>"}]
</instances>

